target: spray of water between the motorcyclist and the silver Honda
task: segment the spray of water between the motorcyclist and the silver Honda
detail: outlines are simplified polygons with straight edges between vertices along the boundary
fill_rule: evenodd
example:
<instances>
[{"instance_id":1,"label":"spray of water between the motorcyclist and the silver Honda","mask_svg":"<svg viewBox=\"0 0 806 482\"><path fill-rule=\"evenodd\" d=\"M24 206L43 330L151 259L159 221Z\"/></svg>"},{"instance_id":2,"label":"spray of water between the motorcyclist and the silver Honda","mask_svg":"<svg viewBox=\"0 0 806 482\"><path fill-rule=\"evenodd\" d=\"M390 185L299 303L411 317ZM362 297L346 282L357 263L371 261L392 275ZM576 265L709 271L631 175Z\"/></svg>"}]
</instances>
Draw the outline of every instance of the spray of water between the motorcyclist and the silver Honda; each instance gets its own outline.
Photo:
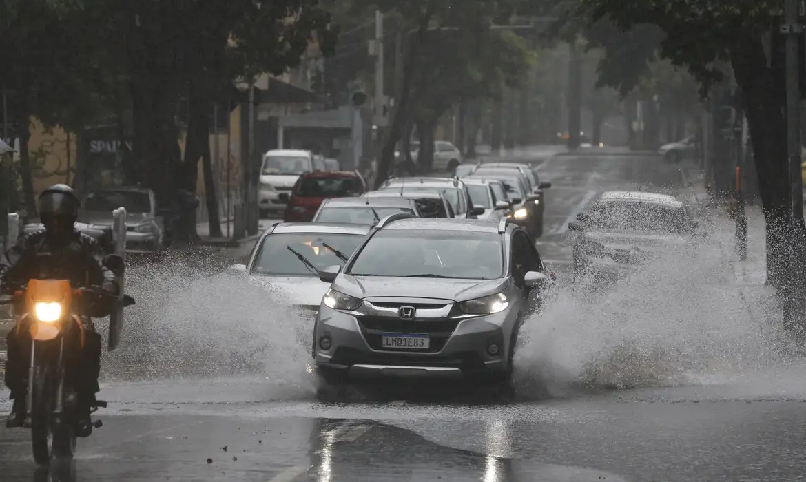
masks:
<instances>
[{"instance_id":1,"label":"spray of water between the motorcyclist and the silver Honda","mask_svg":"<svg viewBox=\"0 0 806 482\"><path fill-rule=\"evenodd\" d=\"M267 397L312 392L312 321L264 280L201 272L217 261L185 256L132 266L127 291L136 305L127 308L120 346L102 359L106 381L237 377L271 385Z\"/></svg>"}]
</instances>

